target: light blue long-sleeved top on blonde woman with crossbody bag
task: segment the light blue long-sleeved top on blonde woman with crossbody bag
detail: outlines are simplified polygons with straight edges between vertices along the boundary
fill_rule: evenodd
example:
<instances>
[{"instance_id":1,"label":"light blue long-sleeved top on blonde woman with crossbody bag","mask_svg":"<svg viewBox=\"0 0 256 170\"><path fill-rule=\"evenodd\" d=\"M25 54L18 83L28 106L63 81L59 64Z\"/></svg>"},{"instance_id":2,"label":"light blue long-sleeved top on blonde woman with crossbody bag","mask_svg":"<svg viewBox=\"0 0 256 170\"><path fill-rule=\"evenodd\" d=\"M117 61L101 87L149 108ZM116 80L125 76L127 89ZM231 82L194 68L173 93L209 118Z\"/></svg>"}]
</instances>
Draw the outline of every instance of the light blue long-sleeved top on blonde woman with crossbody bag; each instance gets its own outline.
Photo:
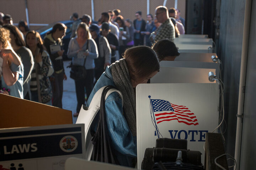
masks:
<instances>
[{"instance_id":1,"label":"light blue long-sleeved top on blonde woman with crossbody bag","mask_svg":"<svg viewBox=\"0 0 256 170\"><path fill-rule=\"evenodd\" d=\"M85 61L85 68L88 69L94 69L95 64L94 64L94 59L98 58L98 49L95 41L93 39L88 40L89 45L88 45L88 50L89 50L89 55L86 57ZM82 49L86 51L87 47L87 42L85 42L84 46L82 46ZM72 63L74 65L84 65L84 58L77 58L77 52L79 51L80 47L78 45L78 42L76 41L76 37L72 38L69 41L69 47L68 47L68 58L72 58Z\"/></svg>"}]
</instances>

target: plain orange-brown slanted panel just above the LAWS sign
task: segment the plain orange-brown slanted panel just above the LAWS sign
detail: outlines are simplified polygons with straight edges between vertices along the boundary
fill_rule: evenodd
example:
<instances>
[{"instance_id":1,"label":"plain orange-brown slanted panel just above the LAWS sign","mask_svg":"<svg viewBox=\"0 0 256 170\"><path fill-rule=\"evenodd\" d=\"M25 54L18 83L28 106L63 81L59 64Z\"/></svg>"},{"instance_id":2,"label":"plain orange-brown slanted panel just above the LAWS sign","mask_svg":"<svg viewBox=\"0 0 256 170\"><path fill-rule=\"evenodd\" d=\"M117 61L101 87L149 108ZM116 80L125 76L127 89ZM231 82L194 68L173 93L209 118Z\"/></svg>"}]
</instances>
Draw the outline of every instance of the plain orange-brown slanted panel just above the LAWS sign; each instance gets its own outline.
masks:
<instances>
[{"instance_id":1,"label":"plain orange-brown slanted panel just above the LAWS sign","mask_svg":"<svg viewBox=\"0 0 256 170\"><path fill-rule=\"evenodd\" d=\"M0 94L0 128L72 124L72 112Z\"/></svg>"}]
</instances>

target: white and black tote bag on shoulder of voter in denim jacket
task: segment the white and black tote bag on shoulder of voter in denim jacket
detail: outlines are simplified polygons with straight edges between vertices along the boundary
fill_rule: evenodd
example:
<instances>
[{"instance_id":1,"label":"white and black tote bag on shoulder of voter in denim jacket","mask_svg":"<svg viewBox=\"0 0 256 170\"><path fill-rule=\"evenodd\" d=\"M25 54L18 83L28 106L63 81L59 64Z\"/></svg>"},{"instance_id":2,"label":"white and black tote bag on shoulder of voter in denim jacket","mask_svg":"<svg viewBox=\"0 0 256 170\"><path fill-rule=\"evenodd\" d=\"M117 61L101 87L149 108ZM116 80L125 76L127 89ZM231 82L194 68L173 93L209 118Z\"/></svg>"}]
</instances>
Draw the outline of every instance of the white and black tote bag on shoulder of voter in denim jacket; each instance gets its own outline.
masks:
<instances>
[{"instance_id":1,"label":"white and black tote bag on shoulder of voter in denim jacket","mask_svg":"<svg viewBox=\"0 0 256 170\"><path fill-rule=\"evenodd\" d=\"M106 163L119 164L113 148L110 145L110 137L106 128L105 120L105 100L112 92L117 92L122 100L122 93L113 88L113 86L101 87L91 100L90 106L81 107L76 124L85 125L85 154L86 160L97 160ZM103 116L103 119L102 119ZM98 128L95 134L92 133L91 125L98 118ZM103 121L104 120L104 121ZM102 153L102 154L101 154Z\"/></svg>"}]
</instances>

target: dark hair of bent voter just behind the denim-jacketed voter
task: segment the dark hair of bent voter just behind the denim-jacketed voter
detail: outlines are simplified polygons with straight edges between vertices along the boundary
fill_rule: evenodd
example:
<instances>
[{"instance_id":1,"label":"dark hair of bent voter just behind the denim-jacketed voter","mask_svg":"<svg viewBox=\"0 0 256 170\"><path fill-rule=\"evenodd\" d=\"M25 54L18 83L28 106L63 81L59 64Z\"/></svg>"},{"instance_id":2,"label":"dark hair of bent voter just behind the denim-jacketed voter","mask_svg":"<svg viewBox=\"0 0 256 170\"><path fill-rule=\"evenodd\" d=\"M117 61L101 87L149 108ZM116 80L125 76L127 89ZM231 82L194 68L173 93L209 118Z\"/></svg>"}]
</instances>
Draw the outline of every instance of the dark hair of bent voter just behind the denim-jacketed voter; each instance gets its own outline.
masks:
<instances>
[{"instance_id":1,"label":"dark hair of bent voter just behind the denim-jacketed voter","mask_svg":"<svg viewBox=\"0 0 256 170\"><path fill-rule=\"evenodd\" d=\"M159 40L152 47L158 54L159 61L162 61L167 56L179 56L178 47L169 39Z\"/></svg>"}]
</instances>

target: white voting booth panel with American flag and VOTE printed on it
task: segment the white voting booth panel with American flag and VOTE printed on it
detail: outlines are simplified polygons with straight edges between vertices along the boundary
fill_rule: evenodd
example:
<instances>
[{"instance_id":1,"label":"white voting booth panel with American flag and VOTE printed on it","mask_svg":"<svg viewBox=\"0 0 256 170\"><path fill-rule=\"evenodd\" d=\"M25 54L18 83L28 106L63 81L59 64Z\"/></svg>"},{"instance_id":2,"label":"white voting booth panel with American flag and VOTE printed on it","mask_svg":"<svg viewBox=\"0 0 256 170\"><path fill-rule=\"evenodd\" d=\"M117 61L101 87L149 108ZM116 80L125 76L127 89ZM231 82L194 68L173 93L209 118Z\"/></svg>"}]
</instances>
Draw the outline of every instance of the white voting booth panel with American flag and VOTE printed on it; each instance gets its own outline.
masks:
<instances>
[{"instance_id":1,"label":"white voting booth panel with American flag and VOTE printed on it","mask_svg":"<svg viewBox=\"0 0 256 170\"><path fill-rule=\"evenodd\" d=\"M157 138L186 139L187 148L202 153L207 132L218 126L217 83L139 84L136 87L138 169L146 148Z\"/></svg>"}]
</instances>

